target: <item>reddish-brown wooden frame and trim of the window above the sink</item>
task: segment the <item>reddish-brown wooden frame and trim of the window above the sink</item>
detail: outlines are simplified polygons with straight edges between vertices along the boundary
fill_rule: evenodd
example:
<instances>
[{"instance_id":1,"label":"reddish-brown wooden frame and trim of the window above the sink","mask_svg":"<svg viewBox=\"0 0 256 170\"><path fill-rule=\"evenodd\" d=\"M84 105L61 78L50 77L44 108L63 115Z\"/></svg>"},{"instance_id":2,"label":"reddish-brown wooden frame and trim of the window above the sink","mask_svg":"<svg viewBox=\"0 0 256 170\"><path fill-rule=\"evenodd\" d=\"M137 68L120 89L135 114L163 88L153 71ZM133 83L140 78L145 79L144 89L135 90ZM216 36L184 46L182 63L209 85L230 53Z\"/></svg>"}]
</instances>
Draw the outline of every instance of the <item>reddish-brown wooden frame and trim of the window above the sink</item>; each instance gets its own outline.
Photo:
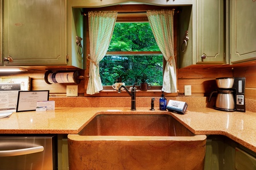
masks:
<instances>
[{"instance_id":1,"label":"reddish-brown wooden frame and trim of the window above the sink","mask_svg":"<svg viewBox=\"0 0 256 170\"><path fill-rule=\"evenodd\" d=\"M86 56L90 53L89 49L89 28L88 28L88 11L117 11L117 22L148 22L148 18L146 15L146 10L160 10L160 9L173 9L176 8L174 6L153 6L153 5L114 5L108 7L99 7L99 8L84 8L85 17L85 27L86 27ZM175 40L176 41L176 40ZM175 50L176 51L176 50ZM177 52L176 52L177 53ZM176 60L175 53L175 60ZM163 55L162 52L107 52L106 55L110 56L112 54L120 54L120 55L151 55L151 54L159 54ZM86 61L86 70L85 76L89 76L89 60ZM163 57L163 73L166 67L166 59ZM85 91L87 88L88 79L85 79ZM127 88L131 86L126 86ZM150 90L141 91L139 90L139 84L137 84L137 96L160 96L162 94L162 86L152 86ZM85 96L90 96L85 93ZM112 86L103 86L103 90L94 94L94 96L129 96L126 92L122 92L118 94L116 90L112 88ZM168 96L177 96L177 93L168 94Z\"/></svg>"}]
</instances>

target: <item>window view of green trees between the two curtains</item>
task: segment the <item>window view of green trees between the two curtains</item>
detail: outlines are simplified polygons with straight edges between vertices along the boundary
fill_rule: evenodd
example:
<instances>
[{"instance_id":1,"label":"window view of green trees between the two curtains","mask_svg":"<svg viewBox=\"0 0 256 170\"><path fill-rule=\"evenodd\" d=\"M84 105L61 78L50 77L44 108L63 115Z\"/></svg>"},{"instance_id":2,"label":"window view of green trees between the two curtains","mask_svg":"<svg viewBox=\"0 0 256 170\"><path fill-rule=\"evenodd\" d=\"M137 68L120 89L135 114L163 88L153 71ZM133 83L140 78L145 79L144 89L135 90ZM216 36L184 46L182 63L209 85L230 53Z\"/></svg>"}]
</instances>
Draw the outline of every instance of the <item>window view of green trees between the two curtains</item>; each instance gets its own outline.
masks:
<instances>
[{"instance_id":1,"label":"window view of green trees between the two curtains","mask_svg":"<svg viewBox=\"0 0 256 170\"><path fill-rule=\"evenodd\" d=\"M149 23L115 23L108 53L100 62L103 86L124 82L127 86L146 80L163 84L163 55Z\"/></svg>"}]
</instances>

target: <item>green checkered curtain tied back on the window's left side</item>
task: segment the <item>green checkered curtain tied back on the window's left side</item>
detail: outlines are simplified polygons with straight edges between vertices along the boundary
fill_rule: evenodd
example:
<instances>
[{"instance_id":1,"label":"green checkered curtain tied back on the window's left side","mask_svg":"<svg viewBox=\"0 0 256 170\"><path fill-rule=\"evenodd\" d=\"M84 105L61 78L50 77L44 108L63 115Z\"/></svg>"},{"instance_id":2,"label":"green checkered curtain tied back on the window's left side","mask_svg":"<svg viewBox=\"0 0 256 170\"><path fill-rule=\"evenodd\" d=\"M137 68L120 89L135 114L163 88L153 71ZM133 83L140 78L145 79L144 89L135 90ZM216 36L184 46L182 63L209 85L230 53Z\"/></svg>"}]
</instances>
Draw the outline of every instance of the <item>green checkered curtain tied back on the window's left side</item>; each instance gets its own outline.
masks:
<instances>
[{"instance_id":1,"label":"green checkered curtain tied back on the window's left side","mask_svg":"<svg viewBox=\"0 0 256 170\"><path fill-rule=\"evenodd\" d=\"M90 70L86 94L93 95L103 90L98 63L108 51L114 31L115 20L117 20L117 12L89 12L88 18L90 54L87 59L90 61Z\"/></svg>"}]
</instances>

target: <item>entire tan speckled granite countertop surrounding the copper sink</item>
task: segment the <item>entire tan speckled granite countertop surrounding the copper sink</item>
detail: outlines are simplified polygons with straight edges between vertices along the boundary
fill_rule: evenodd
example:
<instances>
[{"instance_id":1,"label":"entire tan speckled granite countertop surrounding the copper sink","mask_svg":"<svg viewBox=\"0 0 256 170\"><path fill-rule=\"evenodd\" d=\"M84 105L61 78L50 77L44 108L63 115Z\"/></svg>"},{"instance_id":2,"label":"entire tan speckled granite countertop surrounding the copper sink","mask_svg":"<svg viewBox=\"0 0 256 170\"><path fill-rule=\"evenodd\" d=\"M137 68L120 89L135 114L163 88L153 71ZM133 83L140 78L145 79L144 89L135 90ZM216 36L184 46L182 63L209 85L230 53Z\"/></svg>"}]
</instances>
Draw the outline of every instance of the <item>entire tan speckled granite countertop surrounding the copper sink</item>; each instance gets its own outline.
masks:
<instances>
[{"instance_id":1,"label":"entire tan speckled granite countertop surrounding the copper sink","mask_svg":"<svg viewBox=\"0 0 256 170\"><path fill-rule=\"evenodd\" d=\"M256 152L256 113L189 108L186 114L148 108L56 108L46 112L14 112L0 119L0 134L77 134L101 113L171 114L194 134L220 134Z\"/></svg>"}]
</instances>

